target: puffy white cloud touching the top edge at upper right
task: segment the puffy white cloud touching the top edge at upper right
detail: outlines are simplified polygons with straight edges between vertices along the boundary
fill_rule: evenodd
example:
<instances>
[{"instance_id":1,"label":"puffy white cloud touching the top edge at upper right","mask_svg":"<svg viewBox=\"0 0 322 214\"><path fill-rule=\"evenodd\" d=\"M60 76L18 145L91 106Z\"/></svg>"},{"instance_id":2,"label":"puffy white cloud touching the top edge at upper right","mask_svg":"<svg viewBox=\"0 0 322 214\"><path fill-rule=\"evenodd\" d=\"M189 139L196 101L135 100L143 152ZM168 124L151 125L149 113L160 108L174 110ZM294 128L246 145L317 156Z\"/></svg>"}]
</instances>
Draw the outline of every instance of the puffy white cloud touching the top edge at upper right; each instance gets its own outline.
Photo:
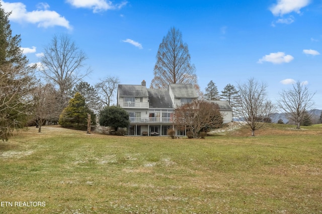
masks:
<instances>
[{"instance_id":1,"label":"puffy white cloud touching the top edge at upper right","mask_svg":"<svg viewBox=\"0 0 322 214\"><path fill-rule=\"evenodd\" d=\"M300 10L306 7L310 0L277 0L277 4L270 8L274 16L282 16L292 12L300 13Z\"/></svg>"}]
</instances>

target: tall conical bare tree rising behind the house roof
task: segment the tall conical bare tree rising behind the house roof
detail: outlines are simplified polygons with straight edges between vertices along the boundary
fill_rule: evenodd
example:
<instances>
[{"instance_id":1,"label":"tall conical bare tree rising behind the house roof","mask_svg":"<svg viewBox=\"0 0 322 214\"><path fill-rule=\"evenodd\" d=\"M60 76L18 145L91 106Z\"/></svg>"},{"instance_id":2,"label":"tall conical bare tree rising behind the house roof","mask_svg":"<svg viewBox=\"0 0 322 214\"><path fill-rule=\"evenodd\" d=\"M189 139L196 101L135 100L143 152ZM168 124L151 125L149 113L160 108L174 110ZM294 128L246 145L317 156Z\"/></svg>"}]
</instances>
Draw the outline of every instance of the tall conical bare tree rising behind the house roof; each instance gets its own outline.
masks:
<instances>
[{"instance_id":1,"label":"tall conical bare tree rising behind the house roof","mask_svg":"<svg viewBox=\"0 0 322 214\"><path fill-rule=\"evenodd\" d=\"M199 89L188 45L182 42L182 34L175 28L169 30L159 46L150 88L168 88L169 84L193 84Z\"/></svg>"}]
</instances>

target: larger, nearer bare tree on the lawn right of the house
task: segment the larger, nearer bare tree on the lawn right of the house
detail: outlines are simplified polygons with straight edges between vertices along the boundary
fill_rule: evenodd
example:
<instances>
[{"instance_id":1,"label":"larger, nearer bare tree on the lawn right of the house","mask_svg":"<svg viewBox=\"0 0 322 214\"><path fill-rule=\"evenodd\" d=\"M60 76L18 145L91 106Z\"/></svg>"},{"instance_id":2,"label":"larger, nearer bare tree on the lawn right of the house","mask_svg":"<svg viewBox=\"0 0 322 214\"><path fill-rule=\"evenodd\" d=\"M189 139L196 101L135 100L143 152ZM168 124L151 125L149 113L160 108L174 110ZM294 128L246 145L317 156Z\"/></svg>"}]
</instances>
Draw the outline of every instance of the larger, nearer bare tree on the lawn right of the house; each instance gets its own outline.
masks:
<instances>
[{"instance_id":1,"label":"larger, nearer bare tree on the lawn right of the house","mask_svg":"<svg viewBox=\"0 0 322 214\"><path fill-rule=\"evenodd\" d=\"M236 119L241 126L252 131L263 128L273 115L274 105L267 98L267 84L259 83L253 78L247 83L238 84L238 104L236 106Z\"/></svg>"}]
</instances>

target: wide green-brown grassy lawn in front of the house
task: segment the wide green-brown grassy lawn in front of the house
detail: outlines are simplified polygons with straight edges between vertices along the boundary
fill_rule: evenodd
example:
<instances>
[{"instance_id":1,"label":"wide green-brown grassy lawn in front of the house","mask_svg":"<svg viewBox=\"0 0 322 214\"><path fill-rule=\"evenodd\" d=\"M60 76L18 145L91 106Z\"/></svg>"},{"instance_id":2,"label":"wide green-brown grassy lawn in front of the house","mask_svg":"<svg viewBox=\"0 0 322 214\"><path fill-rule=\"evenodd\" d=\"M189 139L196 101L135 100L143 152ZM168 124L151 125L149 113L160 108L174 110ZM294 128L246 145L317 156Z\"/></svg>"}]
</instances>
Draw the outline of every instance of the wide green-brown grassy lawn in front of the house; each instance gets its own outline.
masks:
<instances>
[{"instance_id":1,"label":"wide green-brown grassy lawn in front of the house","mask_svg":"<svg viewBox=\"0 0 322 214\"><path fill-rule=\"evenodd\" d=\"M0 213L322 213L321 124L206 139L42 131L0 142Z\"/></svg>"}]
</instances>

